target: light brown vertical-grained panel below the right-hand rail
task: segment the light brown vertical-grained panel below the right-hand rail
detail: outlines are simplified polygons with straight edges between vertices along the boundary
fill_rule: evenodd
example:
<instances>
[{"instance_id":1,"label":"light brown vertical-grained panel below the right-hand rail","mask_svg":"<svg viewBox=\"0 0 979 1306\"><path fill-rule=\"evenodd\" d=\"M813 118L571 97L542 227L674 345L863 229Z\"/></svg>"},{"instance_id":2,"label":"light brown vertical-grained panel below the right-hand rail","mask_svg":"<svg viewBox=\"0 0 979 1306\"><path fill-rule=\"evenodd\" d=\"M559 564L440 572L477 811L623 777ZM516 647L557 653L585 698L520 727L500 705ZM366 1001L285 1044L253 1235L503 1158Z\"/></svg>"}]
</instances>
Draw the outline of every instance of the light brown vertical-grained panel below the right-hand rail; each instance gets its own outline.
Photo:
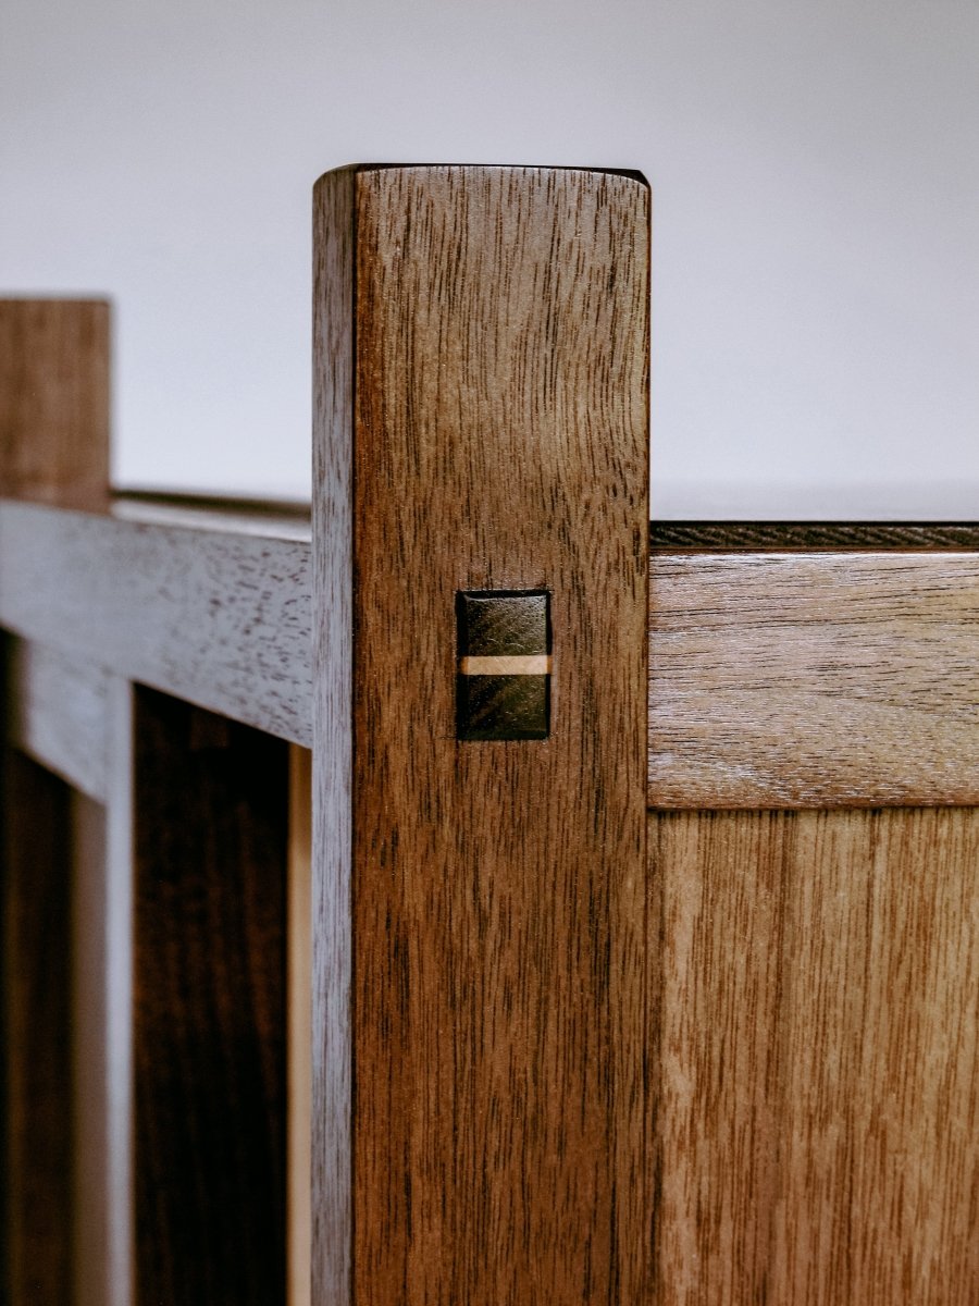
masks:
<instances>
[{"instance_id":1,"label":"light brown vertical-grained panel below the right-hand rail","mask_svg":"<svg viewBox=\"0 0 979 1306\"><path fill-rule=\"evenodd\" d=\"M979 811L650 816L657 1306L979 1288Z\"/></svg>"}]
</instances>

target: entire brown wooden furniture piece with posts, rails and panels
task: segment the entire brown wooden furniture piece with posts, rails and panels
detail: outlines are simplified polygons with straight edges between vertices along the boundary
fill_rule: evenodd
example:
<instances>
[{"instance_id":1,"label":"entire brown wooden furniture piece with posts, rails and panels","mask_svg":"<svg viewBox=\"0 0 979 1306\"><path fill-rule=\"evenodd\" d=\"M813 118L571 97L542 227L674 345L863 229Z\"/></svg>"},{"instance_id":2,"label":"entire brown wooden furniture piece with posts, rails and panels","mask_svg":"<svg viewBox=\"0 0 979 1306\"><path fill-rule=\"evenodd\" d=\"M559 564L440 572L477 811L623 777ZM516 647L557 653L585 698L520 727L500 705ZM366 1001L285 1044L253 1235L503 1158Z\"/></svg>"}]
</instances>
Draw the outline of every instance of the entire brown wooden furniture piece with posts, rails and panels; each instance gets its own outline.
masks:
<instances>
[{"instance_id":1,"label":"entire brown wooden furniture piece with posts, rails and panels","mask_svg":"<svg viewBox=\"0 0 979 1306\"><path fill-rule=\"evenodd\" d=\"M0 302L12 1306L971 1299L979 529L650 532L647 295L633 174L328 174L311 517Z\"/></svg>"}]
</instances>

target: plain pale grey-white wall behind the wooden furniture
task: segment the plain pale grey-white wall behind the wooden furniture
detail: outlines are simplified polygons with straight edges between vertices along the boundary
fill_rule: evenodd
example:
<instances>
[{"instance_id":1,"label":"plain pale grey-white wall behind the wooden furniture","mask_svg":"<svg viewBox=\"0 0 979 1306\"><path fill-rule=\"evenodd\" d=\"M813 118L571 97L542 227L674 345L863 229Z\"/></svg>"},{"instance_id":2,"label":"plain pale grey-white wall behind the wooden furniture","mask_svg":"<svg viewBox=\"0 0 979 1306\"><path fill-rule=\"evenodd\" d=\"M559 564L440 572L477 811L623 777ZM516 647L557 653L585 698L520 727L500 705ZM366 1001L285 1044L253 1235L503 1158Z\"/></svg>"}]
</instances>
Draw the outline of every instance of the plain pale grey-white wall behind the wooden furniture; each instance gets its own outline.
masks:
<instances>
[{"instance_id":1,"label":"plain pale grey-white wall behind the wooden furniture","mask_svg":"<svg viewBox=\"0 0 979 1306\"><path fill-rule=\"evenodd\" d=\"M650 178L654 515L979 518L979 0L4 0L0 290L115 299L117 485L308 495L359 161Z\"/></svg>"}]
</instances>

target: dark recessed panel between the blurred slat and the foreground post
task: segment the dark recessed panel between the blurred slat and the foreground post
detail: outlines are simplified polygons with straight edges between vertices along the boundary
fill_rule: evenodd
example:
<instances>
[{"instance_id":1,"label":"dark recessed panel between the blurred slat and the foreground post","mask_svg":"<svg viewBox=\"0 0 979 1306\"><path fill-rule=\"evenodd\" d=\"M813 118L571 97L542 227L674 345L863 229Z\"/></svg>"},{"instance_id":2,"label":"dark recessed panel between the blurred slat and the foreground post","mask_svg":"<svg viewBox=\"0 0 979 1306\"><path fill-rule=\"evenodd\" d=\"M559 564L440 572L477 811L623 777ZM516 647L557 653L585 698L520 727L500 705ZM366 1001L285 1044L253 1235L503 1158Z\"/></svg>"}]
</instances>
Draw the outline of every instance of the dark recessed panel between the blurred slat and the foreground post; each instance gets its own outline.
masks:
<instances>
[{"instance_id":1,"label":"dark recessed panel between the blurred slat and the foreground post","mask_svg":"<svg viewBox=\"0 0 979 1306\"><path fill-rule=\"evenodd\" d=\"M136 696L136 1302L286 1293L287 747Z\"/></svg>"}]
</instances>

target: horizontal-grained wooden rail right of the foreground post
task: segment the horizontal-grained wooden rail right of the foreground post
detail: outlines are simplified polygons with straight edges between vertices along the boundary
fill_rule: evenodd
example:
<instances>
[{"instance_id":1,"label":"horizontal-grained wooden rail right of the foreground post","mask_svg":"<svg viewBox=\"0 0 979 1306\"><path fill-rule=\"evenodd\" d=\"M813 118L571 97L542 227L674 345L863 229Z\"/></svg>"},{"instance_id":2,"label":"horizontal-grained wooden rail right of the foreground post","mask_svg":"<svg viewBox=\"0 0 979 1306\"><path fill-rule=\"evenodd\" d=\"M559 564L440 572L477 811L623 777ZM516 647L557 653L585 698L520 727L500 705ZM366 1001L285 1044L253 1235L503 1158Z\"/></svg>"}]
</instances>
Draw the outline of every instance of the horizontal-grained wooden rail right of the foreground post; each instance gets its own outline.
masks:
<instances>
[{"instance_id":1,"label":"horizontal-grained wooden rail right of the foreground post","mask_svg":"<svg viewBox=\"0 0 979 1306\"><path fill-rule=\"evenodd\" d=\"M979 555L658 556L650 590L650 806L979 802Z\"/></svg>"}]
</instances>

